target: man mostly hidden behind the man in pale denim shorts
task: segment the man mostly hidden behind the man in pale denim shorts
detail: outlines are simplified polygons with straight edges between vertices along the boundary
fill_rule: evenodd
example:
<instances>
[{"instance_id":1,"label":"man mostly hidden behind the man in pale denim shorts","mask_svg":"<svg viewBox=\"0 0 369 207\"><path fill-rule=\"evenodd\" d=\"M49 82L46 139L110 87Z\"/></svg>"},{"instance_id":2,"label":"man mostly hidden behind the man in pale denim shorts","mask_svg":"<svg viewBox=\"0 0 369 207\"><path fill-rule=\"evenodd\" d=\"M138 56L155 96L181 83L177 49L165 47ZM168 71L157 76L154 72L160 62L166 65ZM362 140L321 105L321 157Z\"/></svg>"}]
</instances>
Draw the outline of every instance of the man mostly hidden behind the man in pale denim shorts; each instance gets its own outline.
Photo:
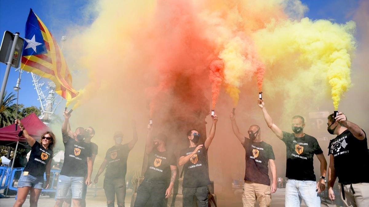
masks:
<instances>
[{"instance_id":1,"label":"man mostly hidden behind the man in pale denim shorts","mask_svg":"<svg viewBox=\"0 0 369 207\"><path fill-rule=\"evenodd\" d=\"M69 123L68 123L68 134L73 134L73 132L70 130ZM86 137L85 137L84 141L85 141L85 143L90 144L90 150L92 152L92 167L93 167L93 164L95 162L95 158L96 158L97 151L98 151L97 144L91 142L91 139L94 136L95 136L95 130L91 126L89 126L86 129ZM81 207L86 207L86 194L87 194L87 185L83 184L83 194L82 194L82 200L81 200ZM69 188L67 196L66 196L65 201L64 201L63 207L70 207L71 204L72 204L72 189Z\"/></svg>"}]
</instances>

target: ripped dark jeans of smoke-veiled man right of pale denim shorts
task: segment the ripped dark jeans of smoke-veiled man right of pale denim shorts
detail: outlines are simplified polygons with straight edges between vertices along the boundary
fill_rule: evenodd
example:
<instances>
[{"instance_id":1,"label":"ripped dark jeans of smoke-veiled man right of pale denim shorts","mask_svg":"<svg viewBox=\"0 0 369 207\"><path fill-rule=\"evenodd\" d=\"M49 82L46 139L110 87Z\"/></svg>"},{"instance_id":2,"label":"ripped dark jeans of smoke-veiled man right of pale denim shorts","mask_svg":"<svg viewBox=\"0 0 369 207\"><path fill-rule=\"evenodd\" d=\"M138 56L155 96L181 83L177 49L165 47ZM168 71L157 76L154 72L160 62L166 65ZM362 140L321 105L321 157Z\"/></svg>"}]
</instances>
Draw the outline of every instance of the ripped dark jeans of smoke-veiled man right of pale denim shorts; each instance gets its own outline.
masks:
<instances>
[{"instance_id":1,"label":"ripped dark jeans of smoke-veiled man right of pale denim shorts","mask_svg":"<svg viewBox=\"0 0 369 207\"><path fill-rule=\"evenodd\" d=\"M118 207L124 207L125 199L125 179L105 178L104 190L108 207L114 207L115 195L117 195Z\"/></svg>"}]
</instances>

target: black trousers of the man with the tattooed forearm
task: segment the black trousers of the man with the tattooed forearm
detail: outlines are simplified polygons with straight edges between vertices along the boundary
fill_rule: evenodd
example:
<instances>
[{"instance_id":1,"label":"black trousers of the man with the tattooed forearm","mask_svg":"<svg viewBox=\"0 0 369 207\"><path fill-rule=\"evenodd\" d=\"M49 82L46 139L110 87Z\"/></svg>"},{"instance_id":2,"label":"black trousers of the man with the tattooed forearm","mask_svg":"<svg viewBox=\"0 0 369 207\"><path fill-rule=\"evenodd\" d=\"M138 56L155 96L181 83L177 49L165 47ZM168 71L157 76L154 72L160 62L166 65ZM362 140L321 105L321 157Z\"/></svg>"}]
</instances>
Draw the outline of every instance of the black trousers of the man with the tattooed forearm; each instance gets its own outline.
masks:
<instances>
[{"instance_id":1,"label":"black trousers of the man with the tattooed forearm","mask_svg":"<svg viewBox=\"0 0 369 207\"><path fill-rule=\"evenodd\" d=\"M153 207L165 206L166 183L149 183L144 180L137 189L137 198L134 207L145 207L146 203L151 200Z\"/></svg>"}]
</instances>

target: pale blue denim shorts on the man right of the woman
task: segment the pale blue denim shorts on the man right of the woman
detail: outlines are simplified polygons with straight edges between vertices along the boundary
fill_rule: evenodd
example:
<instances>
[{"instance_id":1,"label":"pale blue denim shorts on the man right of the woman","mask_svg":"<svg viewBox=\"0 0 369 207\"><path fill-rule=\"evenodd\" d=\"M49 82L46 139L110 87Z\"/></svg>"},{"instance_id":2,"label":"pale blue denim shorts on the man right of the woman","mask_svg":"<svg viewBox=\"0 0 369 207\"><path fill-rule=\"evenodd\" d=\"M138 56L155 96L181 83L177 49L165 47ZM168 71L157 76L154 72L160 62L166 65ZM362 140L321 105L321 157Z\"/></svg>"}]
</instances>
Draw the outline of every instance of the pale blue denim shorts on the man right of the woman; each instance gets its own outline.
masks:
<instances>
[{"instance_id":1,"label":"pale blue denim shorts on the man right of the woman","mask_svg":"<svg viewBox=\"0 0 369 207\"><path fill-rule=\"evenodd\" d=\"M56 196L56 199L65 199L69 187L72 189L72 199L82 199L83 184L83 177L68 177L65 175L59 175L58 187L56 189L58 196Z\"/></svg>"}]
</instances>

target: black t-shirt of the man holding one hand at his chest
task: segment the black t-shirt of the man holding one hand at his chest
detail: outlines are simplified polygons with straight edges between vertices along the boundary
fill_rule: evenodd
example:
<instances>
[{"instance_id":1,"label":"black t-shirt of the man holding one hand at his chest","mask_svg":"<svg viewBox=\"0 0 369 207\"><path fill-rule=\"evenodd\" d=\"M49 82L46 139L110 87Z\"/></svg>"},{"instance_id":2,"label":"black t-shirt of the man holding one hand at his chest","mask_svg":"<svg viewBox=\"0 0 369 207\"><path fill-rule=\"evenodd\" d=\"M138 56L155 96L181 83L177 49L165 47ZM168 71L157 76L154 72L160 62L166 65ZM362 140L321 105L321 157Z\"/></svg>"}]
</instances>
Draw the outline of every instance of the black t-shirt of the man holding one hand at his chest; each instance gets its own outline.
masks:
<instances>
[{"instance_id":1,"label":"black t-shirt of the man holding one hand at his chest","mask_svg":"<svg viewBox=\"0 0 369 207\"><path fill-rule=\"evenodd\" d=\"M191 154L196 147L185 148L179 156ZM183 165L183 187L201 187L210 184L207 150L203 146Z\"/></svg>"}]
</instances>

